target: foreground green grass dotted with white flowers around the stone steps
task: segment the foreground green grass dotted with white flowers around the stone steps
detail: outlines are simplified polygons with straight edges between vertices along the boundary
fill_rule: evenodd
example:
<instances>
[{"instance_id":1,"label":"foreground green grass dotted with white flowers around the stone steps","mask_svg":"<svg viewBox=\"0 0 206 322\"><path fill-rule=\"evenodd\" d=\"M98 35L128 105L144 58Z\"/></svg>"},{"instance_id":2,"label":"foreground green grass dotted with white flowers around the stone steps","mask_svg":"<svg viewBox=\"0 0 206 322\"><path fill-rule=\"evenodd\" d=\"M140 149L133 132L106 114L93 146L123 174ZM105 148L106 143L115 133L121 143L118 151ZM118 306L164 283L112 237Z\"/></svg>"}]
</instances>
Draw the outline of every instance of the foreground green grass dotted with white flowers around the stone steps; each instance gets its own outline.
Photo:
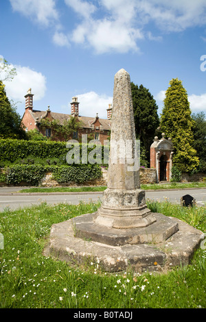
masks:
<instances>
[{"instance_id":1,"label":"foreground green grass dotted with white flowers around the stone steps","mask_svg":"<svg viewBox=\"0 0 206 322\"><path fill-rule=\"evenodd\" d=\"M94 212L100 203L61 203L0 213L0 308L205 308L206 251L167 274L104 273L98 263L72 267L43 256L53 223ZM148 201L206 232L205 208Z\"/></svg>"}]
</instances>

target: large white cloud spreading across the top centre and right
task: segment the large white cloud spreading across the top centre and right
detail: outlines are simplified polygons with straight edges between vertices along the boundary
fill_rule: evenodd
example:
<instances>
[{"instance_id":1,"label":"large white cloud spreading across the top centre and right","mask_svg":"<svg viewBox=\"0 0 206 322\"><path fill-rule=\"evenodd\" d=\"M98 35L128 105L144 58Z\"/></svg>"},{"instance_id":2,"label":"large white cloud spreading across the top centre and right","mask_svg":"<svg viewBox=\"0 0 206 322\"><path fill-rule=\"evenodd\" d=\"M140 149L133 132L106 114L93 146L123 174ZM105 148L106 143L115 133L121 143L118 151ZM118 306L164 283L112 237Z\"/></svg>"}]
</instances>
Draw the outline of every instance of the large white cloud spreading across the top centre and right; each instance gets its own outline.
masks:
<instances>
[{"instance_id":1,"label":"large white cloud spreading across the top centre and right","mask_svg":"<svg viewBox=\"0 0 206 322\"><path fill-rule=\"evenodd\" d=\"M144 27L155 22L163 32L179 32L206 23L205 0L65 0L82 21L71 32L73 42L89 45L96 53L138 51L140 39L161 40ZM95 18L95 13L101 18ZM102 15L102 12L104 14Z\"/></svg>"}]
</instances>

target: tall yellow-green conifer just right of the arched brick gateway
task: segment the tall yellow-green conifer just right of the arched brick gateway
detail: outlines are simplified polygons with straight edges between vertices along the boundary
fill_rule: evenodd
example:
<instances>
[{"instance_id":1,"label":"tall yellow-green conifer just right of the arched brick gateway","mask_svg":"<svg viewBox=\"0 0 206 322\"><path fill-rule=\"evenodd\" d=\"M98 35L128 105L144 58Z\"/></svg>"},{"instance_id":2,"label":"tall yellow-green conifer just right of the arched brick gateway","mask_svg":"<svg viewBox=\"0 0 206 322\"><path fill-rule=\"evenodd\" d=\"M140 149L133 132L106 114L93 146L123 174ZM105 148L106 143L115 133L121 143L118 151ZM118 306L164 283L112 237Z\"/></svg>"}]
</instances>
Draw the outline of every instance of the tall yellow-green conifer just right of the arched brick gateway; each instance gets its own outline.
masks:
<instances>
[{"instance_id":1,"label":"tall yellow-green conifer just right of the arched brick gateway","mask_svg":"<svg viewBox=\"0 0 206 322\"><path fill-rule=\"evenodd\" d=\"M187 92L178 78L170 81L165 93L164 107L161 114L161 131L172 138L174 145L174 165L179 171L192 173L199 164L194 149L190 103Z\"/></svg>"}]
</instances>

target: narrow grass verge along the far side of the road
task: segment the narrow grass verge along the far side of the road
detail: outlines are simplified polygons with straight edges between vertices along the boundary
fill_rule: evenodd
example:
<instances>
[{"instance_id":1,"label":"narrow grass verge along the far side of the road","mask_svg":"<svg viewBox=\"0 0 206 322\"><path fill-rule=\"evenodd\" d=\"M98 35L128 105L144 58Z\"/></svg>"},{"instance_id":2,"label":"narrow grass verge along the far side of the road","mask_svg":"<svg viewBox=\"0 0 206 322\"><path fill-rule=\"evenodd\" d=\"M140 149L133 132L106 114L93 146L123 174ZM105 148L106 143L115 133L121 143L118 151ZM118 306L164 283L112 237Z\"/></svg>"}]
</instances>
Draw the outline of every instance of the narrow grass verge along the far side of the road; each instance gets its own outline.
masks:
<instances>
[{"instance_id":1,"label":"narrow grass verge along the far side of the road","mask_svg":"<svg viewBox=\"0 0 206 322\"><path fill-rule=\"evenodd\" d=\"M161 190L161 189L183 189L183 188L203 188L206 187L206 182L191 182L187 184L173 182L171 184L141 184L141 189L144 190ZM82 187L52 187L52 188L24 188L18 193L80 193L104 191L106 186L82 186Z\"/></svg>"}]
</instances>

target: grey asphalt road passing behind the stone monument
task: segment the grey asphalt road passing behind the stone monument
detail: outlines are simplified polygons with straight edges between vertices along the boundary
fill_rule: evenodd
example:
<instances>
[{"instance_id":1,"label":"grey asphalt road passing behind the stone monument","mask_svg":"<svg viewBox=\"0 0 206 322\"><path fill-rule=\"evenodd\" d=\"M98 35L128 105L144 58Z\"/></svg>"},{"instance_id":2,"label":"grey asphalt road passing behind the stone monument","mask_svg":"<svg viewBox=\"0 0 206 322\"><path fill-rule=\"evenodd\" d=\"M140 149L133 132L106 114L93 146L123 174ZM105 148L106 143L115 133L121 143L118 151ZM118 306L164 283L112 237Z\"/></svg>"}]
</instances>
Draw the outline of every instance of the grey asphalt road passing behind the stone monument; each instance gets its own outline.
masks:
<instances>
[{"instance_id":1,"label":"grey asphalt road passing behind the stone monument","mask_svg":"<svg viewBox=\"0 0 206 322\"><path fill-rule=\"evenodd\" d=\"M15 210L16 208L29 207L31 205L40 204L46 201L48 204L56 203L73 203L78 204L82 201L98 201L101 199L102 193L55 193L55 194L16 194L20 188L16 187L1 187L0 188L0 211L5 208ZM146 191L146 199L163 201L168 199L172 203L179 203L183 195L192 195L196 199L198 206L206 206L206 189L190 189L190 190L156 190Z\"/></svg>"}]
</instances>

